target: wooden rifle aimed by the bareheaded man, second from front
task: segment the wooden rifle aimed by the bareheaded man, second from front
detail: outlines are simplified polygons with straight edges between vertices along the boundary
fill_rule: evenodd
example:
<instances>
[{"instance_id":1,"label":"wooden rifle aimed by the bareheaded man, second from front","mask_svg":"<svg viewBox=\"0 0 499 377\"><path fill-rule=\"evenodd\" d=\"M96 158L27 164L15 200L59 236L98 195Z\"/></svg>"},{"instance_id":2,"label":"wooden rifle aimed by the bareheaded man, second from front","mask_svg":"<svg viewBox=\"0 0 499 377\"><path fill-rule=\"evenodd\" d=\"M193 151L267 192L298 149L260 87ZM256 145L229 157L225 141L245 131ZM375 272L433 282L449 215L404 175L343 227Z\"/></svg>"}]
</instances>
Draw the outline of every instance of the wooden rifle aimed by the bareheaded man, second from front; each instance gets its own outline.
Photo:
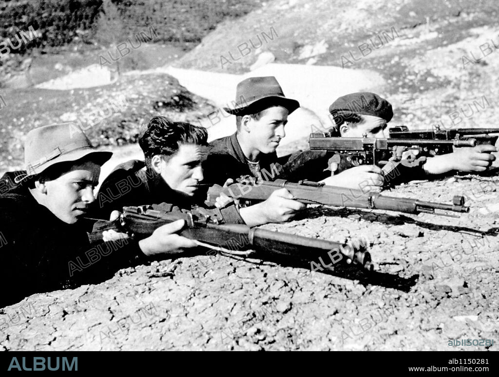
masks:
<instances>
[{"instance_id":1,"label":"wooden rifle aimed by the bareheaded man, second from front","mask_svg":"<svg viewBox=\"0 0 499 377\"><path fill-rule=\"evenodd\" d=\"M453 204L426 202L411 198L397 198L374 192L348 189L344 187L327 186L324 183L299 181L292 183L284 179L263 181L250 176L241 177L238 183L227 187L214 185L208 190L208 202L214 203L219 196L227 195L233 199L262 201L272 192L280 188L287 189L295 200L305 204L321 204L335 207L353 207L364 209L383 209L389 211L419 214L421 212L435 215L458 217L450 212L470 212L465 207L465 198L455 196ZM436 212L444 211L444 212Z\"/></svg>"}]
</instances>

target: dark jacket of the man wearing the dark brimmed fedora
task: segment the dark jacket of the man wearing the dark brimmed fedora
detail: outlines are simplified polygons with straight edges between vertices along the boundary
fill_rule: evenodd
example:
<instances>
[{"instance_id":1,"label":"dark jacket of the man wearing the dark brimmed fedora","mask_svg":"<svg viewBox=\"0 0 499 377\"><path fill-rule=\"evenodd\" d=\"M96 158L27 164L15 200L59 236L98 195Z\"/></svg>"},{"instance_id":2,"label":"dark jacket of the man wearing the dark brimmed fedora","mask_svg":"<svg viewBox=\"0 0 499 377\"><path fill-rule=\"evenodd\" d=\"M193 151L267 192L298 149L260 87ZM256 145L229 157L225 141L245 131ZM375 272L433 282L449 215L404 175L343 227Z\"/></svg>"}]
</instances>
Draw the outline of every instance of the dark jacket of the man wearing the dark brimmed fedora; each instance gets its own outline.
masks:
<instances>
[{"instance_id":1,"label":"dark jacket of the man wearing the dark brimmed fedora","mask_svg":"<svg viewBox=\"0 0 499 377\"><path fill-rule=\"evenodd\" d=\"M331 175L328 168L329 155L325 151L298 151L283 157L273 153L260 153L260 176L263 180L286 179L297 182L301 179L319 181ZM203 163L205 181L223 185L227 179L242 175L253 175L248 166L236 133L210 143L207 159Z\"/></svg>"}]
</instances>

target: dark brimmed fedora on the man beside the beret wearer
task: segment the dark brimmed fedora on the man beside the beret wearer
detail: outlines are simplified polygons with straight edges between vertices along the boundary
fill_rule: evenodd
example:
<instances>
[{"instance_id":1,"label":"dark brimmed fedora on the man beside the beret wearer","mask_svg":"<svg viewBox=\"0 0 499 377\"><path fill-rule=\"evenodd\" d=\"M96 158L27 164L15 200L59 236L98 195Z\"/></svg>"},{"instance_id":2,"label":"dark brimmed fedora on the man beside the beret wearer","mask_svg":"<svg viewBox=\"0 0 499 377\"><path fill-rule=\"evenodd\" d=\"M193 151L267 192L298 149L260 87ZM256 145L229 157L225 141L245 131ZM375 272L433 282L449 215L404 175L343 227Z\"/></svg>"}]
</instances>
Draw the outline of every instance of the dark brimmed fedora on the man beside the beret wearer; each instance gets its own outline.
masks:
<instances>
[{"instance_id":1,"label":"dark brimmed fedora on the man beside the beret wearer","mask_svg":"<svg viewBox=\"0 0 499 377\"><path fill-rule=\"evenodd\" d=\"M244 115L264 105L285 107L289 114L300 107L297 100L287 98L274 76L249 77L236 88L236 102L224 110L233 115ZM258 110L257 110L258 111Z\"/></svg>"}]
</instances>

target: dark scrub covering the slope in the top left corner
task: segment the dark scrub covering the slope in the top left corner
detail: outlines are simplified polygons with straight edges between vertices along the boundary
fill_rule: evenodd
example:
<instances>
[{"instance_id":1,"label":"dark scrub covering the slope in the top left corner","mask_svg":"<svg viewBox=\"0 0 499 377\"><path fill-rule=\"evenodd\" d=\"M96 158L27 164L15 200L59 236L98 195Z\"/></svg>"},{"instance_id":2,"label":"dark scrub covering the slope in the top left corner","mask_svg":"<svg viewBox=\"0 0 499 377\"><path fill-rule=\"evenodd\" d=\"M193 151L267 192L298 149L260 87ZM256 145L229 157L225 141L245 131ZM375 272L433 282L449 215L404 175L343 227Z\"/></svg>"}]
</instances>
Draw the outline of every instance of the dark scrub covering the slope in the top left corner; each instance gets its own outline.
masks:
<instances>
[{"instance_id":1,"label":"dark scrub covering the slope in the top left corner","mask_svg":"<svg viewBox=\"0 0 499 377\"><path fill-rule=\"evenodd\" d=\"M108 0L116 5L125 24L120 41L153 26L156 41L192 46L225 18L254 9L260 0ZM41 37L13 53L24 54L34 47L60 47L71 42L99 41L97 20L106 17L103 0L7 0L0 1L0 41L14 38L33 26ZM1 61L0 61L1 65Z\"/></svg>"}]
</instances>

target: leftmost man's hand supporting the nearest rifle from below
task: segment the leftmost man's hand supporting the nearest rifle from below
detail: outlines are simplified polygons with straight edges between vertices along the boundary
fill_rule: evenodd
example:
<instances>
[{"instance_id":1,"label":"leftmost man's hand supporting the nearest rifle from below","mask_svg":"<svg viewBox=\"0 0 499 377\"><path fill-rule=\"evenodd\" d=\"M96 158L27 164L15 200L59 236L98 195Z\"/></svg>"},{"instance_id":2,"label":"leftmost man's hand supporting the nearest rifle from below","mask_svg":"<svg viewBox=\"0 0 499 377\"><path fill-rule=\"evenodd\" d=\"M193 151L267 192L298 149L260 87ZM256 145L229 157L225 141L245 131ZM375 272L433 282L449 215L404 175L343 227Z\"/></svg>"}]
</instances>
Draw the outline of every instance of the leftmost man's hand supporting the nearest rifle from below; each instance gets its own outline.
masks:
<instances>
[{"instance_id":1,"label":"leftmost man's hand supporting the nearest rifle from below","mask_svg":"<svg viewBox=\"0 0 499 377\"><path fill-rule=\"evenodd\" d=\"M152 235L139 241L139 247L148 257L162 254L181 254L182 248L191 248L197 244L188 238L175 234L184 227L184 220L177 220L156 229Z\"/></svg>"}]
</instances>

